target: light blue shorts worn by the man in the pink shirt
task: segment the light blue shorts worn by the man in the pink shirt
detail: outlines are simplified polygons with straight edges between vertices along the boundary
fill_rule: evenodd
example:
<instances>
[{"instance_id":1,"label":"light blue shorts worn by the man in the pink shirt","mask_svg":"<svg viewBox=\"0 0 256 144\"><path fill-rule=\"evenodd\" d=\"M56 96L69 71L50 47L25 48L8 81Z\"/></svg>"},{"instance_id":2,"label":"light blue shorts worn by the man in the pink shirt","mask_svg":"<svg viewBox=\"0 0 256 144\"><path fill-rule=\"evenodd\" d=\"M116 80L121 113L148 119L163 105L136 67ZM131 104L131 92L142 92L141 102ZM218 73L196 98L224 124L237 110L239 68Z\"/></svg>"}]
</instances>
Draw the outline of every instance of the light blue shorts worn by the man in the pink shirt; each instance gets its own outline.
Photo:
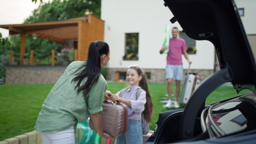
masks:
<instances>
[{"instance_id":1,"label":"light blue shorts worn by the man in the pink shirt","mask_svg":"<svg viewBox=\"0 0 256 144\"><path fill-rule=\"evenodd\" d=\"M176 81L183 80L183 65L166 65L166 80L174 78Z\"/></svg>"}]
</instances>

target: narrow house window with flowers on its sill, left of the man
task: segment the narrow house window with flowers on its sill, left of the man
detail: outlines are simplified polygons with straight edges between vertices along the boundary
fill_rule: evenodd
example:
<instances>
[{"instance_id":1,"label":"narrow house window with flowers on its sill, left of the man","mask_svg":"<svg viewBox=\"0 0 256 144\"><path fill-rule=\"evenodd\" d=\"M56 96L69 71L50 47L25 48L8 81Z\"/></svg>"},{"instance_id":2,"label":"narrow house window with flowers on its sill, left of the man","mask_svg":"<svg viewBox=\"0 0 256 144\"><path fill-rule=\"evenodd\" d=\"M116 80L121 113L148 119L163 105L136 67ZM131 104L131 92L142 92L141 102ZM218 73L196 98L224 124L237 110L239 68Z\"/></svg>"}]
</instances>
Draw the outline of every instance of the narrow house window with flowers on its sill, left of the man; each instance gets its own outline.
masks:
<instances>
[{"instance_id":1,"label":"narrow house window with flowers on its sill, left of the man","mask_svg":"<svg viewBox=\"0 0 256 144\"><path fill-rule=\"evenodd\" d=\"M138 60L139 33L125 34L125 55L123 60Z\"/></svg>"}]
</instances>

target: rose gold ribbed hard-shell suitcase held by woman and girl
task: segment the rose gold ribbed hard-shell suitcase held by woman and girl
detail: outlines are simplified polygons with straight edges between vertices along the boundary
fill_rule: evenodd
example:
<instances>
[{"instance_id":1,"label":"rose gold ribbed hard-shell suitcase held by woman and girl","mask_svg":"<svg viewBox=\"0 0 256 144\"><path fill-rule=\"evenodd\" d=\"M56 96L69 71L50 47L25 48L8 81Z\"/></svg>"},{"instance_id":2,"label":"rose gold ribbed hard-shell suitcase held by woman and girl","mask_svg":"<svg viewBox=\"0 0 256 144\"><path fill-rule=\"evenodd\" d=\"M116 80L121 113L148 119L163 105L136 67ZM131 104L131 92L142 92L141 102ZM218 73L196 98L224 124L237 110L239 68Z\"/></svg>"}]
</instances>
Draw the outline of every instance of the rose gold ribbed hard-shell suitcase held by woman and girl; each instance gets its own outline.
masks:
<instances>
[{"instance_id":1,"label":"rose gold ribbed hard-shell suitcase held by woman and girl","mask_svg":"<svg viewBox=\"0 0 256 144\"><path fill-rule=\"evenodd\" d=\"M104 102L103 111L100 112L102 118L103 132L113 137L121 136L128 130L128 112L125 105L120 103ZM93 121L90 118L89 126L96 131Z\"/></svg>"}]
</instances>

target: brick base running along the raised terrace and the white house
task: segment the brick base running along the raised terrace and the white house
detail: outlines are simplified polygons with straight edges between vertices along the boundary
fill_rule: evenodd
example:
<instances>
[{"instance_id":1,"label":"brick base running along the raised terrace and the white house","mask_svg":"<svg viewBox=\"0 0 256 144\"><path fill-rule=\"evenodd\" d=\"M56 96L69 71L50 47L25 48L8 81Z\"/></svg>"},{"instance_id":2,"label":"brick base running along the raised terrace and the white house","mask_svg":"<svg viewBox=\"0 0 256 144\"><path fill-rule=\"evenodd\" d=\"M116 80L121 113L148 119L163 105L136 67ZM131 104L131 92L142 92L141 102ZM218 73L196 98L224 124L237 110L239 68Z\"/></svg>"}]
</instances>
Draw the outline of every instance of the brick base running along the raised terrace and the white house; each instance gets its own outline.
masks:
<instances>
[{"instance_id":1,"label":"brick base running along the raised terrace and the white house","mask_svg":"<svg viewBox=\"0 0 256 144\"><path fill-rule=\"evenodd\" d=\"M67 66L6 66L5 84L55 84L63 74ZM219 70L219 69L217 69ZM116 82L118 72L126 72L127 69L109 69L108 81ZM148 83L166 83L165 69L143 69L151 74ZM183 69L183 81L186 77L187 69ZM189 73L200 76L203 81L213 70L191 69ZM175 81L173 81L175 83Z\"/></svg>"}]
</instances>

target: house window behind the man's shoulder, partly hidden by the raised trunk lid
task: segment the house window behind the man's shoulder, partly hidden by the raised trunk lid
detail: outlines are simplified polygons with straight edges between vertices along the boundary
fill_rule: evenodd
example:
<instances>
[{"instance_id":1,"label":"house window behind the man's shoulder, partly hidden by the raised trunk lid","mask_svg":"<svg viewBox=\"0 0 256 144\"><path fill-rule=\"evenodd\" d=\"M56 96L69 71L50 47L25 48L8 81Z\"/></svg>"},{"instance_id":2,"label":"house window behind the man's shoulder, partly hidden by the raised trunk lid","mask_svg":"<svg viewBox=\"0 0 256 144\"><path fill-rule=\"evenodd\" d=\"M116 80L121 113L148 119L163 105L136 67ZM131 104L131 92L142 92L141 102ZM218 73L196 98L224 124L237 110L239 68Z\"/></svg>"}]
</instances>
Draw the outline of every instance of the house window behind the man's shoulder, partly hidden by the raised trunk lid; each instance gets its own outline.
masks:
<instances>
[{"instance_id":1,"label":"house window behind the man's shoulder, partly hidden by the raised trunk lid","mask_svg":"<svg viewBox=\"0 0 256 144\"><path fill-rule=\"evenodd\" d=\"M188 37L186 33L180 32L180 38L183 38L186 41L186 46L187 46L187 53L188 54L195 54L197 49L195 47L195 40Z\"/></svg>"}]
</instances>

